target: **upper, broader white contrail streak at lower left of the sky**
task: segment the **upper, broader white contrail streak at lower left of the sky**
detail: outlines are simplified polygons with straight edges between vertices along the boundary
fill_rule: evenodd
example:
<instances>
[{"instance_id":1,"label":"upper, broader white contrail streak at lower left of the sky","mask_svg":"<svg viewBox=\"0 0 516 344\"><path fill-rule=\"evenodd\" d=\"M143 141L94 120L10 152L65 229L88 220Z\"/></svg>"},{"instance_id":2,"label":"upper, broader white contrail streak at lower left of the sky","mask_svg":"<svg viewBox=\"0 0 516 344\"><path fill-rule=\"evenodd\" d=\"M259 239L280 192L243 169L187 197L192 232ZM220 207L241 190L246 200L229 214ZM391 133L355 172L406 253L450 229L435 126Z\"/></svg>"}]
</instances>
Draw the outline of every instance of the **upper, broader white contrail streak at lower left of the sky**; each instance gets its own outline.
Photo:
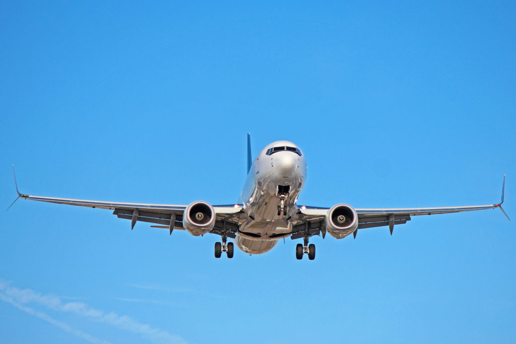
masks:
<instances>
[{"instance_id":1,"label":"upper, broader white contrail streak at lower left of the sky","mask_svg":"<svg viewBox=\"0 0 516 344\"><path fill-rule=\"evenodd\" d=\"M41 294L31 289L20 289L11 286L9 283L0 280L0 291L3 292L2 300L11 303L13 306L24 307L21 304L36 303L50 309L59 310L60 312L73 313L82 317L89 318L94 321L102 322L117 327L118 329L140 334L147 337L153 342L187 344L187 341L180 336L172 335L166 331L156 329L148 324L143 324L137 320L119 315L114 312L106 313L100 309L90 307L84 302L62 302L61 298L51 294ZM10 298L10 299L9 299ZM9 301L11 300L11 301ZM18 305L16 305L16 304ZM20 308L20 307L18 307ZM28 307L24 307L28 308ZM22 309L22 308L20 308ZM31 309L31 308L28 308ZM25 309L22 309L25 310ZM36 310L31 309L37 313ZM27 312L27 310L25 310ZM35 313L27 312L33 314ZM48 316L47 316L48 317ZM49 317L50 318L50 317ZM52 319L52 318L51 318ZM45 319L46 320L46 319ZM52 319L54 320L54 319ZM49 320L47 320L49 321ZM54 320L57 321L57 320ZM52 322L54 323L54 322ZM60 323L63 324L63 323ZM66 325L66 324L65 324ZM61 327L61 326L59 326ZM61 327L63 328L63 327ZM64 329L63 329L64 330ZM74 330L75 331L75 330ZM87 335L87 334L85 334ZM92 337L93 338L93 337ZM96 338L94 338L96 340Z\"/></svg>"}]
</instances>

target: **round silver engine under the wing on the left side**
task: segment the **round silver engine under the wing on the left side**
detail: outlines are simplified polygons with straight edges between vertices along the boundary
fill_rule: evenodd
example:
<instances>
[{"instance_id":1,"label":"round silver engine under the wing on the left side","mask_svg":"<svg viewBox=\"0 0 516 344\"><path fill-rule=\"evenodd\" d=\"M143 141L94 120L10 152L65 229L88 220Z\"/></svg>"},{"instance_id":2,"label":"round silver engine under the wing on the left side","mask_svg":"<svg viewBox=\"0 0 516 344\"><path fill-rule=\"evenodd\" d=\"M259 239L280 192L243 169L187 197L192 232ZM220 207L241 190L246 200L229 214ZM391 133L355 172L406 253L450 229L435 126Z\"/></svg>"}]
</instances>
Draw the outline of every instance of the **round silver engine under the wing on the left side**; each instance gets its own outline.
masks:
<instances>
[{"instance_id":1,"label":"round silver engine under the wing on the left side","mask_svg":"<svg viewBox=\"0 0 516 344\"><path fill-rule=\"evenodd\" d=\"M191 235L199 236L213 230L215 210L206 202L191 203L183 212L183 227Z\"/></svg>"}]
</instances>

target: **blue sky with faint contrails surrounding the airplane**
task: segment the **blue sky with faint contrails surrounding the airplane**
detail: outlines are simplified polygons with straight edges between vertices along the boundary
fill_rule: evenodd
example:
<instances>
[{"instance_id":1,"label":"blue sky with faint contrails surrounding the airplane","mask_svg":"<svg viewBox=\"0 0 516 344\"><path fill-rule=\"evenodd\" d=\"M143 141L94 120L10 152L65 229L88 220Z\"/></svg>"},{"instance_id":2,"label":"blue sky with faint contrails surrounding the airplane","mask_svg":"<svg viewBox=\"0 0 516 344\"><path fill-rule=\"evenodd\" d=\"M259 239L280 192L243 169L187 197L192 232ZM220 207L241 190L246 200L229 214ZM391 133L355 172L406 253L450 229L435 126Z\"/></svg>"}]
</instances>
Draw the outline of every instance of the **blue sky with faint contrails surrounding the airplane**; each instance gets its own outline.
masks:
<instances>
[{"instance_id":1,"label":"blue sky with faint contrails surrounding the airplane","mask_svg":"<svg viewBox=\"0 0 516 344\"><path fill-rule=\"evenodd\" d=\"M514 2L0 4L0 204L20 191L238 200L303 150L299 203L498 203L516 219ZM513 342L516 228L413 217L214 258L220 237L19 200L0 216L0 342Z\"/></svg>"}]
</instances>

